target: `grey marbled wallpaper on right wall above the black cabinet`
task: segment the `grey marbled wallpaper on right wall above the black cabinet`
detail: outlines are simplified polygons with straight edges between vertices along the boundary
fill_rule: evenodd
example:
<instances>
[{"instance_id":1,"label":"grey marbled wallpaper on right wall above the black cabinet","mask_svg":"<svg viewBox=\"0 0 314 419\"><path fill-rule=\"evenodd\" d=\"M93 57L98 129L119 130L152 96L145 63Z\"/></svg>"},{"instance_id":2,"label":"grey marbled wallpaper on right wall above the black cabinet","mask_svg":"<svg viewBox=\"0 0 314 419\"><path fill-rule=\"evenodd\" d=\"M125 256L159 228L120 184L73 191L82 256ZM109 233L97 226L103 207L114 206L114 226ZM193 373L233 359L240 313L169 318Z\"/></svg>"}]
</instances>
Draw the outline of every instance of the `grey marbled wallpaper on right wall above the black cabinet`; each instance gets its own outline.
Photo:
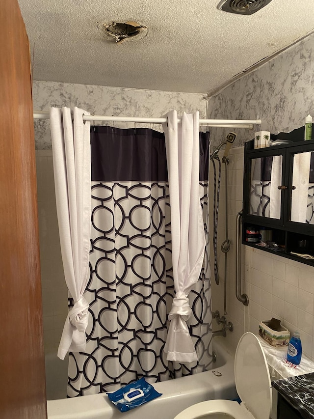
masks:
<instances>
[{"instance_id":1,"label":"grey marbled wallpaper on right wall above the black cabinet","mask_svg":"<svg viewBox=\"0 0 314 419\"><path fill-rule=\"evenodd\" d=\"M314 116L314 35L290 47L209 99L209 118L262 119L254 130L213 128L218 144L229 131L235 146L254 138L255 131L289 132Z\"/></svg>"}]
</instances>

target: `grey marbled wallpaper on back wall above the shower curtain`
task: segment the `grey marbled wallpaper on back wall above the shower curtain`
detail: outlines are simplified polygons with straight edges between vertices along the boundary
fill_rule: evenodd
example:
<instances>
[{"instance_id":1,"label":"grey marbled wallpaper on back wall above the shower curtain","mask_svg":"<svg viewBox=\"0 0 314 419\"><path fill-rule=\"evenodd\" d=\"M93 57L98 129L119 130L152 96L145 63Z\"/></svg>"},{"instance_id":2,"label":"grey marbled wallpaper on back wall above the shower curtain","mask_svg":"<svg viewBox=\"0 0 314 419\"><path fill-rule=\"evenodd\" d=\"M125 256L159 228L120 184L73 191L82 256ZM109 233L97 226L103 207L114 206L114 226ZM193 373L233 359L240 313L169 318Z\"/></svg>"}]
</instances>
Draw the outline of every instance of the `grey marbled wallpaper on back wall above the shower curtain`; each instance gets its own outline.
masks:
<instances>
[{"instance_id":1,"label":"grey marbled wallpaper on back wall above the shower curtain","mask_svg":"<svg viewBox=\"0 0 314 419\"><path fill-rule=\"evenodd\" d=\"M78 106L95 115L143 116L160 118L176 109L190 113L199 111L206 118L206 95L198 93L166 92L157 90L128 89L121 87L94 86L57 82L33 82L33 106L36 111L48 111L50 107ZM96 121L96 125L107 122ZM111 124L111 122L109 123ZM151 127L161 131L158 124L136 124L115 122L117 128ZM49 120L37 119L35 148L51 149Z\"/></svg>"}]
</instances>

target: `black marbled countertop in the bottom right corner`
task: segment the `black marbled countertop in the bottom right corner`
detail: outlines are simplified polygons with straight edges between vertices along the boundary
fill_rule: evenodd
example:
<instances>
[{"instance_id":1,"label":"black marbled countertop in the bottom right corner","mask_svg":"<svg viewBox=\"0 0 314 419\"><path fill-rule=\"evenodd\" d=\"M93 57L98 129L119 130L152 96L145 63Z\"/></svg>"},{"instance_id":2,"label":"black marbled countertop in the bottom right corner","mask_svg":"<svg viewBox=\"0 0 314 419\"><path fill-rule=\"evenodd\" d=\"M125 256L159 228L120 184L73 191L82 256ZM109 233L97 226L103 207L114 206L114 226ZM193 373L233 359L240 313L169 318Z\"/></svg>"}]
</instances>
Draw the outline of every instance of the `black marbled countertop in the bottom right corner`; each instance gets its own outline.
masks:
<instances>
[{"instance_id":1,"label":"black marbled countertop in the bottom right corner","mask_svg":"<svg viewBox=\"0 0 314 419\"><path fill-rule=\"evenodd\" d=\"M300 413L314 418L314 372L272 382L272 386Z\"/></svg>"}]
</instances>

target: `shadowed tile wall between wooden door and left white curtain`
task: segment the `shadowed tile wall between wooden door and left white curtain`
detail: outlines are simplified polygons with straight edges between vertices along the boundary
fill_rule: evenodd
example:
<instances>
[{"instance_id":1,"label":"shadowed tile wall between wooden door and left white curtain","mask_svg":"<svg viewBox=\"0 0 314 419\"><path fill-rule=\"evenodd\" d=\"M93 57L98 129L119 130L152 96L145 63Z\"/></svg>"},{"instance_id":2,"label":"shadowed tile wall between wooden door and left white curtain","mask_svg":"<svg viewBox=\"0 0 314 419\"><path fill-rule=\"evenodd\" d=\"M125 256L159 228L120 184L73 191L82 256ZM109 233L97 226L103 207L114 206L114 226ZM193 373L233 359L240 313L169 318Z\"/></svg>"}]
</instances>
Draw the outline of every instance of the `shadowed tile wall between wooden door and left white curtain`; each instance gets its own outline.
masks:
<instances>
[{"instance_id":1,"label":"shadowed tile wall between wooden door and left white curtain","mask_svg":"<svg viewBox=\"0 0 314 419\"><path fill-rule=\"evenodd\" d=\"M36 150L47 399L66 397L68 362L57 349L68 313L56 214L52 150Z\"/></svg>"}]
</instances>

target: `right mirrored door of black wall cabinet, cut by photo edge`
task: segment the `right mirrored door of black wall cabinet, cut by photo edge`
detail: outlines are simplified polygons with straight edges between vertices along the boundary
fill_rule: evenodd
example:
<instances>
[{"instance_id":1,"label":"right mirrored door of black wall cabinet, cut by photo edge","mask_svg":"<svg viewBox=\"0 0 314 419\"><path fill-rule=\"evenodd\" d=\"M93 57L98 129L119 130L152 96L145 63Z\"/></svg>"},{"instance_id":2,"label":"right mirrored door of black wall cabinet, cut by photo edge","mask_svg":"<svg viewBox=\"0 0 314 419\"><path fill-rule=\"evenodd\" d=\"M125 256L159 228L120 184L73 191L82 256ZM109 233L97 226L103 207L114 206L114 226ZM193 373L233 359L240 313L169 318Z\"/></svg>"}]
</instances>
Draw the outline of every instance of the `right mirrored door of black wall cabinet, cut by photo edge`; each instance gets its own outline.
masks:
<instances>
[{"instance_id":1,"label":"right mirrored door of black wall cabinet, cut by photo edge","mask_svg":"<svg viewBox=\"0 0 314 419\"><path fill-rule=\"evenodd\" d=\"M314 152L293 156L291 221L314 224Z\"/></svg>"}]
</instances>

